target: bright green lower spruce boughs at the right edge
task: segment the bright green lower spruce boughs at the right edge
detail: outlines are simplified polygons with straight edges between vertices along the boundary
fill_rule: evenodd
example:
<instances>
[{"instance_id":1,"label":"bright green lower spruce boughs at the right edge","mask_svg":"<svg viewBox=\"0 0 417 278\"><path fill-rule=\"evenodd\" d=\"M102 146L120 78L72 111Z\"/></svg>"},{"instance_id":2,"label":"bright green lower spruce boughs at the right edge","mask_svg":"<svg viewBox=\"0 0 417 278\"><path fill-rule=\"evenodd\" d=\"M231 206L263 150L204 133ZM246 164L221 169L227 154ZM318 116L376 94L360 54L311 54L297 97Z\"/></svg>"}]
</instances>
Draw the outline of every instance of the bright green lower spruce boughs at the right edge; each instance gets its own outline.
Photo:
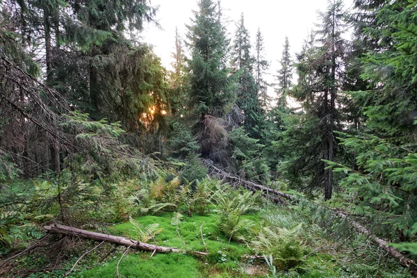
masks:
<instances>
[{"instance_id":1,"label":"bright green lower spruce boughs at the right edge","mask_svg":"<svg viewBox=\"0 0 417 278\"><path fill-rule=\"evenodd\" d=\"M385 213L386 221L404 235L416 234L414 210L417 199L415 173L417 154L412 145L395 145L372 135L347 136L339 133L342 144L356 155L357 170L329 163L334 171L347 174L341 181L363 212ZM358 208L358 209L359 209Z\"/></svg>"}]
</instances>

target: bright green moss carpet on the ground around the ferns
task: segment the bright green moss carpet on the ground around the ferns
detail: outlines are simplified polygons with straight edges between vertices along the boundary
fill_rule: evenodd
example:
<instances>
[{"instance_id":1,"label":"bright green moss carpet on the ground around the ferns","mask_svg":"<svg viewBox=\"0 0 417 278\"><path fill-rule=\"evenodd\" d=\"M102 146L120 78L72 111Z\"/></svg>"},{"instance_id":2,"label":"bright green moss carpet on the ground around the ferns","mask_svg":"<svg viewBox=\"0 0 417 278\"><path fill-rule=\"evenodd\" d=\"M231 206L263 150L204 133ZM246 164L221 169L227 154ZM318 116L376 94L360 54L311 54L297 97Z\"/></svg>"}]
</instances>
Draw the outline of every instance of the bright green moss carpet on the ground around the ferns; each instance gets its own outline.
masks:
<instances>
[{"instance_id":1,"label":"bright green moss carpet on the ground around the ferns","mask_svg":"<svg viewBox=\"0 0 417 278\"><path fill-rule=\"evenodd\" d=\"M273 215L273 217L270 217ZM195 258L186 254L156 254L150 258L149 252L138 252L132 250L126 254L120 262L120 275L122 277L268 277L270 272L265 263L242 259L243 254L253 254L252 250L245 243L231 242L229 249L229 238L220 234L217 227L215 211L205 216L193 215L184 218L179 224L179 239L176 227L171 225L173 213L163 213L158 216L142 216L136 220L143 226L158 223L163 228L161 234L155 236L158 245L179 247L187 250L206 251L200 234L202 226L204 241L209 256ZM300 213L291 212L291 209L268 208L265 211L244 215L243 218L256 223L254 234L259 227L265 224L277 224L282 226L286 223L291 227L296 222L304 222ZM109 228L109 233L135 238L136 234L130 222L115 224ZM347 254L343 247L332 243L331 239L326 240L320 229L314 224L304 222L304 229L300 234L300 240L306 247L306 258L304 263L297 270L279 272L275 277L386 277L400 278L409 277L406 270L400 268L395 262L386 260L384 267L378 265L380 250L374 250L372 245L367 245L368 250L361 250L363 256L352 260L353 254ZM186 246L183 245L183 242ZM366 243L366 238L359 236L355 242ZM322 247L322 249L317 249ZM337 248L340 250L337 251ZM317 249L317 250L316 250ZM316 251L315 251L316 250ZM325 251L327 250L327 251ZM102 263L91 270L83 270L74 273L72 277L116 277L116 265L122 255L122 250L112 254L113 257L106 263ZM375 252L375 254L373 254ZM347 261L347 262L346 262ZM270 275L270 277L274 277Z\"/></svg>"}]
</instances>

